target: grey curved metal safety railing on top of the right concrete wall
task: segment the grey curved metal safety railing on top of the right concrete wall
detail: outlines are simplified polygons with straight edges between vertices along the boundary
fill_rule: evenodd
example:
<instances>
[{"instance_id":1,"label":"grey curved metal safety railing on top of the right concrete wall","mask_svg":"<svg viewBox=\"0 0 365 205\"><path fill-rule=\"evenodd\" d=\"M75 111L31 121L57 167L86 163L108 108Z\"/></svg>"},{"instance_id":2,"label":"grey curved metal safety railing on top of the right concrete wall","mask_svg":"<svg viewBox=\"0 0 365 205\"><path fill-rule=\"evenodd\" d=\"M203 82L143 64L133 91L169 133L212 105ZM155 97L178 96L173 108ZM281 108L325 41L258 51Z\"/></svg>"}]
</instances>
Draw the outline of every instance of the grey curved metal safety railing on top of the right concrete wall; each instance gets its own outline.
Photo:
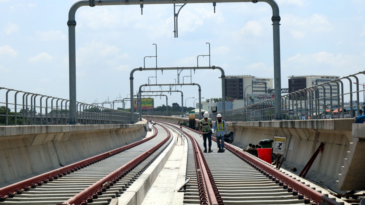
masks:
<instances>
[{"instance_id":1,"label":"grey curved metal safety railing on top of the right concrete wall","mask_svg":"<svg viewBox=\"0 0 365 205\"><path fill-rule=\"evenodd\" d=\"M362 109L365 109L365 85L359 84L359 77L364 78L363 75L365 75L365 71L281 96L283 119L335 119L361 115ZM360 89L360 86L363 89ZM360 102L361 92L364 95L363 102ZM226 111L226 120L273 120L274 107L274 99L257 102L246 107Z\"/></svg>"}]
</instances>

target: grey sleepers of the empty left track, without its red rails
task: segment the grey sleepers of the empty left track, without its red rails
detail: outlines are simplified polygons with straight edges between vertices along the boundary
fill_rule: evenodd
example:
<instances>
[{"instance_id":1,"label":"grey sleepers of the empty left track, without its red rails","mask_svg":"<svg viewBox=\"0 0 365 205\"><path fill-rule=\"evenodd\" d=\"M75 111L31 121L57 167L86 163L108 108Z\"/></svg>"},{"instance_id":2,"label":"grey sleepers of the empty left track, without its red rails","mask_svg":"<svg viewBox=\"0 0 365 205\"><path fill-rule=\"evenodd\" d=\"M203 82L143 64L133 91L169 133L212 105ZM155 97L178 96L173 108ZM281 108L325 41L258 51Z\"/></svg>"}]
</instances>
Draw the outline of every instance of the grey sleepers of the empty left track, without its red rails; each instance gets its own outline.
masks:
<instances>
[{"instance_id":1,"label":"grey sleepers of the empty left track, without its red rails","mask_svg":"<svg viewBox=\"0 0 365 205\"><path fill-rule=\"evenodd\" d=\"M119 154L110 156L103 159L93 165L86 166L83 169L77 170L73 173L59 177L53 181L37 186L35 189L30 189L22 194L14 195L14 198L6 198L4 202L0 202L0 205L12 205L12 204L30 204L30 205L56 205L62 204L75 195L89 189L94 183L103 179L105 176L113 173L123 165L126 165L131 160L140 156L146 150L156 146L169 134L163 127L157 126L158 135L153 139L150 139L138 146L132 147L128 150L120 152ZM160 148L150 154L145 160L140 162L137 166L130 171L125 172L123 177L118 181L107 183L97 190L100 193L99 196L89 197L87 201L82 201L77 204L85 205L105 205L108 204L112 198L120 196L123 192L143 173L144 170L161 154L162 151L168 146L172 137L167 140ZM95 195L95 194L94 194Z\"/></svg>"}]
</instances>

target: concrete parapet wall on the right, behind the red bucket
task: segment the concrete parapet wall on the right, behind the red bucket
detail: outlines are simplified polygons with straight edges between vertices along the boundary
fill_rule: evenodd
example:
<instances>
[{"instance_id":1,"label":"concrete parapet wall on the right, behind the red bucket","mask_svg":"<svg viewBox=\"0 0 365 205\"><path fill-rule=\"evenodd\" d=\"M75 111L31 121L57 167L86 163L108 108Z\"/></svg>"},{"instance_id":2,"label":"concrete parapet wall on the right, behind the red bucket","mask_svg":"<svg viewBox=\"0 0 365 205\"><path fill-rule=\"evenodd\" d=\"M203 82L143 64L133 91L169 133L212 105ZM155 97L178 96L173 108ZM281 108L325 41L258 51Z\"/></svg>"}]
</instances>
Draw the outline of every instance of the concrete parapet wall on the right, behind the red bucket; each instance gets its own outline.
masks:
<instances>
[{"instance_id":1,"label":"concrete parapet wall on the right, behind the red bucket","mask_svg":"<svg viewBox=\"0 0 365 205\"><path fill-rule=\"evenodd\" d=\"M158 119L156 116L150 118ZM171 118L173 117L159 119L172 121ZM336 180L343 158L350 150L350 143L353 142L353 123L353 119L227 122L227 128L229 132L234 132L233 144L244 149L250 143L258 144L261 139L286 137L285 164L296 166L299 171L307 164L320 143L324 142L323 153L318 154L307 177L318 179L337 191ZM293 149L289 151L292 139L294 139Z\"/></svg>"}]
</instances>

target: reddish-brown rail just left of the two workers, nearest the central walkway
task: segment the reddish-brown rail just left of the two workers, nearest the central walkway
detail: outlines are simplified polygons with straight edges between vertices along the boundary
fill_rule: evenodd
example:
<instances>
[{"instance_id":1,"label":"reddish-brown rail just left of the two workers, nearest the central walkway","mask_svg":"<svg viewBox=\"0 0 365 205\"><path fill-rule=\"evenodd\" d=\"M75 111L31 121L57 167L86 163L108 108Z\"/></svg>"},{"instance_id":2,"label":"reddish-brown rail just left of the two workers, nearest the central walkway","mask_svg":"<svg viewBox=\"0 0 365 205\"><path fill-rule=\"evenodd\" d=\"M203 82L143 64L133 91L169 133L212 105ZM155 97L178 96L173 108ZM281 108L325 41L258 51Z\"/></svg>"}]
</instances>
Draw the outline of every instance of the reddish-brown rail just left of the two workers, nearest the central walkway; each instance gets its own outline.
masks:
<instances>
[{"instance_id":1,"label":"reddish-brown rail just left of the two workers, nearest the central walkway","mask_svg":"<svg viewBox=\"0 0 365 205\"><path fill-rule=\"evenodd\" d=\"M161 123L166 123L165 121L161 121L161 120L156 120L158 122ZM171 124L176 124L176 123L171 123ZM172 125L169 125L171 127L174 127ZM177 127L174 127L175 129L178 129ZM203 177L203 183L205 185L205 193L208 196L208 201L206 201L207 204L210 205L224 205L223 203L223 199L221 198L218 188L214 182L214 178L212 176L212 174L210 173L209 167L207 165L207 162L205 161L203 152L200 149L199 144L197 143L196 139L193 138L193 136L189 135L187 132L183 131L183 133L188 136L192 142L193 145L193 152L195 155L195 165L197 166L196 169L198 170L198 168L200 168L200 171L197 171L197 177L199 179L199 173L201 173L202 177ZM210 183L209 183L210 182ZM198 186L199 186L199 181L198 181ZM200 195L200 201L201 201L201 205L204 205L205 201L204 201L204 196Z\"/></svg>"}]
</instances>

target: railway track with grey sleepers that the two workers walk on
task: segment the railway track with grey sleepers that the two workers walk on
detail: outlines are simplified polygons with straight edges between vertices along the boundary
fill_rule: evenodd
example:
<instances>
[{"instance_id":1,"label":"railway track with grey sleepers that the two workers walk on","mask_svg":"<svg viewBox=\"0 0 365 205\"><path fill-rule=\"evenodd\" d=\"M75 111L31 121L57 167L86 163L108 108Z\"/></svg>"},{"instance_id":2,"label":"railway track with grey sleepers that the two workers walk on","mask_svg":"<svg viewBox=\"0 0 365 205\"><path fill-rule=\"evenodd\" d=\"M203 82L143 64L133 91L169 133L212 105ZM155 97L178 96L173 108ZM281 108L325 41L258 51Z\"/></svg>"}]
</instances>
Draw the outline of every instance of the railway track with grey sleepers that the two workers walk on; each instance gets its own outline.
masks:
<instances>
[{"instance_id":1,"label":"railway track with grey sleepers that the two workers walk on","mask_svg":"<svg viewBox=\"0 0 365 205\"><path fill-rule=\"evenodd\" d=\"M157 120L158 121L158 120ZM177 129L177 124L158 121ZM201 192L198 186L196 156L193 148L193 141L199 144L200 152L203 149L203 139L199 138L197 131L183 127L185 136L188 138L188 164L187 178L191 181L185 189L185 204L207 204L200 196ZM212 138L215 140L215 138ZM246 152L237 150L230 144L225 144L226 152L217 153L215 148L216 142L212 141L211 153L202 153L205 160L205 169L210 171L212 184L216 185L216 191L213 193L219 196L222 201L209 204L218 205L266 205L266 204L339 204L333 199L328 198L309 185L304 185L295 177L282 173L274 169L268 163L255 158ZM198 148L199 149L199 148ZM203 173L204 174L204 173ZM209 175L209 173L207 173ZM209 190L205 188L205 195L210 195ZM217 198L217 199L218 199Z\"/></svg>"}]
</instances>

